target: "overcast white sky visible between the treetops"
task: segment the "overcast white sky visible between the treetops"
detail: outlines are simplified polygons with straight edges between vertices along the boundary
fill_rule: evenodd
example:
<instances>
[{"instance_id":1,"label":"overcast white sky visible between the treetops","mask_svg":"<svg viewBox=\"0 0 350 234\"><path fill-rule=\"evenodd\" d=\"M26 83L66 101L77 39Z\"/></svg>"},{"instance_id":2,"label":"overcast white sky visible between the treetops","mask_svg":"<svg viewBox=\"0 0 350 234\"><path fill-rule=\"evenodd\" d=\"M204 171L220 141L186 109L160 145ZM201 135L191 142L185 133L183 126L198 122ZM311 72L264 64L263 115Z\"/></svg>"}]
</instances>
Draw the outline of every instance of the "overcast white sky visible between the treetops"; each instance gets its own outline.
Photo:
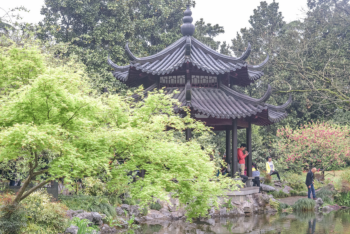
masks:
<instances>
[{"instance_id":1,"label":"overcast white sky visible between the treetops","mask_svg":"<svg viewBox=\"0 0 350 234\"><path fill-rule=\"evenodd\" d=\"M212 25L219 24L224 27L225 33L217 36L218 41L231 42L236 37L241 28L250 27L249 17L253 14L253 9L260 5L261 0L196 0L196 6L192 10L194 22L200 18L204 22ZM23 22L37 23L43 19L40 9L44 5L43 0L0 0L0 7L8 10L15 7L24 6L29 13L20 12ZM266 0L268 4L272 0ZM307 0L276 0L279 2L279 11L282 12L284 20L288 23L303 18L307 9ZM304 11L303 11L304 9ZM0 16L4 15L0 9Z\"/></svg>"}]
</instances>

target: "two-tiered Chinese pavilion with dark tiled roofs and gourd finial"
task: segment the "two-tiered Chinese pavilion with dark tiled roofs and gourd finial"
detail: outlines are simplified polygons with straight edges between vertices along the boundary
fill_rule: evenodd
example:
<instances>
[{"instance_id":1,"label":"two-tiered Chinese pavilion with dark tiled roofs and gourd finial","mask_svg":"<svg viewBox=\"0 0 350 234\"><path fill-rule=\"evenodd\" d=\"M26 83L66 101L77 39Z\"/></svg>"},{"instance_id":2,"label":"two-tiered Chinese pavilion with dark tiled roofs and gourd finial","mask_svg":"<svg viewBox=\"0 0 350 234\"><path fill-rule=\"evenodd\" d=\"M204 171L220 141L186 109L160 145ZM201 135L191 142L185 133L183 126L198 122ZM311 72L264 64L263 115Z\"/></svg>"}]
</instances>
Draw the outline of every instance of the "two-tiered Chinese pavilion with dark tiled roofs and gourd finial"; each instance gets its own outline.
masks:
<instances>
[{"instance_id":1,"label":"two-tiered Chinese pavilion with dark tiled roofs and gourd finial","mask_svg":"<svg viewBox=\"0 0 350 234\"><path fill-rule=\"evenodd\" d=\"M214 130L226 131L226 152L231 152L232 144L231 168L237 171L237 129L246 129L247 150L250 152L246 163L252 165L251 124L264 126L286 118L285 109L292 99L289 96L288 101L280 106L267 104L271 95L270 85L259 99L235 90L235 85L247 87L264 75L261 68L267 64L269 56L259 65L247 64L245 60L251 53L250 43L240 57L218 53L193 37L195 26L191 14L187 5L181 25L183 37L159 53L138 58L126 43L125 53L131 60L129 65L117 66L109 57L107 61L115 69L114 77L128 86L143 84L145 91L166 87L169 94L179 90L173 98L179 99L181 106L188 106L195 119ZM181 106L175 111L181 113ZM188 129L186 140L190 138L191 131ZM230 154L227 155L229 162ZM247 167L247 175L252 175L251 166Z\"/></svg>"}]
</instances>

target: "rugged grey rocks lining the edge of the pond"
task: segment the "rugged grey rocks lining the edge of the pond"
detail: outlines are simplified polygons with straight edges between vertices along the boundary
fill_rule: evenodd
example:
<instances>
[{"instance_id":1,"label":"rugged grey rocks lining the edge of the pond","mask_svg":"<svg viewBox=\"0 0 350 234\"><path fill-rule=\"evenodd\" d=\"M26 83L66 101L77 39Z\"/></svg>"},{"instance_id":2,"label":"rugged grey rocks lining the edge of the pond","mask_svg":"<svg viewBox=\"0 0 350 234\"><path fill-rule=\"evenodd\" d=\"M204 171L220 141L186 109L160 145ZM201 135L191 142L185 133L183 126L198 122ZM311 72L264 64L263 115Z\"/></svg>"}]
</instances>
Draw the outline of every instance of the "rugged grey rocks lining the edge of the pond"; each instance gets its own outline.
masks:
<instances>
[{"instance_id":1,"label":"rugged grey rocks lining the edge of the pond","mask_svg":"<svg viewBox=\"0 0 350 234\"><path fill-rule=\"evenodd\" d=\"M253 193L245 195L245 200L240 202L233 199L225 199L221 202L221 205L217 209L211 207L209 209L208 218L200 218L200 221L207 222L209 224L215 223L214 219L221 217L239 217L239 216L251 216L258 213L266 212L277 212L279 203L273 198L273 195L267 194L265 191L272 191L276 189L272 186L264 185L261 187L261 193ZM288 189L288 188L287 188ZM117 228L110 227L107 224L103 223L103 219L106 218L106 215L99 214L97 212L85 212L84 210L68 210L67 215L70 219L78 217L79 219L87 219L91 225L97 225L100 228L100 234L109 234L109 233L119 233L130 228L131 223L128 222L130 219L134 219L135 223L142 224L160 224L175 220L185 221L185 209L180 206L180 202L176 198L169 198L169 201L157 200L161 205L159 211L154 209L148 209L146 215L142 208L139 205L127 205L121 204L116 207L117 217L114 218L119 224ZM230 204L228 204L230 202ZM339 207L339 206L323 206L323 201L321 198L316 200L315 211L320 211L323 213L329 213L330 211L337 210L339 208L348 208L348 207ZM66 234L77 234L78 227L71 226L66 229Z\"/></svg>"}]
</instances>

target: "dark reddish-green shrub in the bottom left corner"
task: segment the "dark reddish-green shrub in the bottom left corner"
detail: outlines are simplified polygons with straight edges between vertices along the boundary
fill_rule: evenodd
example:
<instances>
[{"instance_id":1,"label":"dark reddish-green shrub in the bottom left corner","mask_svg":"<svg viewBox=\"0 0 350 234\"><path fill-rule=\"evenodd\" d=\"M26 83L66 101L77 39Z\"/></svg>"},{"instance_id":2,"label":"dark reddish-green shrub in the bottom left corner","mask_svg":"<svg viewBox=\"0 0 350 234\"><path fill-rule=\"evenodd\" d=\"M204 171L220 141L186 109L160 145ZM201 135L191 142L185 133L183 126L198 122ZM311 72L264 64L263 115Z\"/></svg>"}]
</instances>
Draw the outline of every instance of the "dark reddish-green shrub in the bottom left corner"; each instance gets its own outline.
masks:
<instances>
[{"instance_id":1,"label":"dark reddish-green shrub in the bottom left corner","mask_svg":"<svg viewBox=\"0 0 350 234\"><path fill-rule=\"evenodd\" d=\"M13 202L14 196L0 194L0 233L17 234L27 225L27 213L18 202Z\"/></svg>"}]
</instances>

